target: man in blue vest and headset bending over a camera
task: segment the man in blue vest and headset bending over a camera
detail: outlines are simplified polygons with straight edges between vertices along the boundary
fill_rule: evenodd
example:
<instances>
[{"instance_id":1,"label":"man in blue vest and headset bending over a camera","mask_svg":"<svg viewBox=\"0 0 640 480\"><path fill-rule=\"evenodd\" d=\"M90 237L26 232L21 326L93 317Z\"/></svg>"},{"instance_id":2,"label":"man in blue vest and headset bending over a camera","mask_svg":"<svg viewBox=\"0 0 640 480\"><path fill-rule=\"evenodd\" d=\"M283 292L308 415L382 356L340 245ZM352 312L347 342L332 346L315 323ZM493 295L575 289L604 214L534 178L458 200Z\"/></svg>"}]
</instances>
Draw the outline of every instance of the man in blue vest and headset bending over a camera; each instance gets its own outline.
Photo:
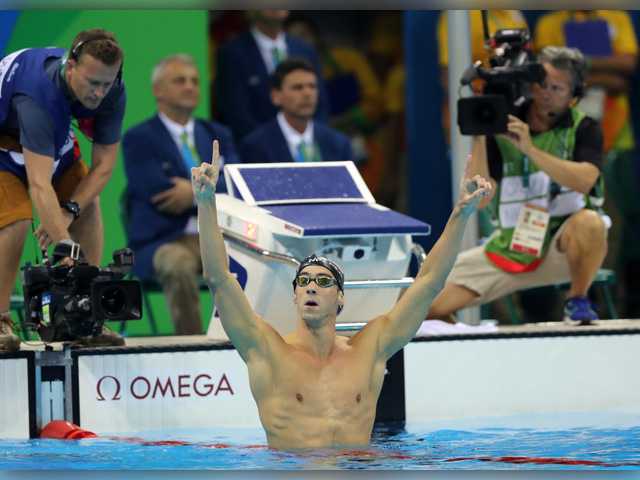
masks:
<instances>
[{"instance_id":1,"label":"man in blue vest and headset bending over a camera","mask_svg":"<svg viewBox=\"0 0 640 480\"><path fill-rule=\"evenodd\" d=\"M111 32L85 30L71 49L29 48L0 61L0 351L19 348L9 300L32 221L41 248L77 251L97 265L99 194L115 165L125 108L123 52ZM91 168L73 148L72 120L92 141ZM76 243L77 242L77 243ZM63 261L72 260L65 258ZM105 331L93 344L121 345Z\"/></svg>"}]
</instances>

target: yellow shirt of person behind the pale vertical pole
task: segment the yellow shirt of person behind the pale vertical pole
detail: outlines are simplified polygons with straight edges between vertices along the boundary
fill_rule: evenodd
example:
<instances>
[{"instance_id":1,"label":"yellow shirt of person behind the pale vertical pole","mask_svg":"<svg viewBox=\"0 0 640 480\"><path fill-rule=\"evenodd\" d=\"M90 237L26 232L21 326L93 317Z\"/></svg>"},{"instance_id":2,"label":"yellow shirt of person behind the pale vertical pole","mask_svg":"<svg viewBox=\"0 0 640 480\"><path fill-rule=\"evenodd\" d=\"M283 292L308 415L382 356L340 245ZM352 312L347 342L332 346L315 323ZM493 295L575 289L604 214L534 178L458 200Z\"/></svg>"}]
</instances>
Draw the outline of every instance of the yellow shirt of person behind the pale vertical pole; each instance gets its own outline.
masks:
<instances>
[{"instance_id":1,"label":"yellow shirt of person behind the pale vertical pole","mask_svg":"<svg viewBox=\"0 0 640 480\"><path fill-rule=\"evenodd\" d=\"M520 10L489 10L487 15L489 35L503 28L529 28ZM471 58L487 63L490 52L484 48L484 32L480 10L469 11L471 23ZM438 62L441 66L449 65L449 40L447 38L447 11L443 10L438 18Z\"/></svg>"}]
</instances>

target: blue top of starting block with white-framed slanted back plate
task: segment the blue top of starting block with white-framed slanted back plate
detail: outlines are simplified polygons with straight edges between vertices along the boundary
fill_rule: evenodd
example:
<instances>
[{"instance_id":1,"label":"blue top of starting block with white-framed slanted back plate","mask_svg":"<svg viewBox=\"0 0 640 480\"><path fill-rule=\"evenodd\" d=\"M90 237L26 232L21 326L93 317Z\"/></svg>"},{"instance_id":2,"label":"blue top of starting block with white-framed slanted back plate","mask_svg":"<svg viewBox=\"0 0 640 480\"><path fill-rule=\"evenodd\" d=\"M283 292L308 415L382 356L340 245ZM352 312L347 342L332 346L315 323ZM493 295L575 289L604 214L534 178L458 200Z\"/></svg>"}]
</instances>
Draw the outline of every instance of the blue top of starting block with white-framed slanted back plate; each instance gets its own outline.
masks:
<instances>
[{"instance_id":1,"label":"blue top of starting block with white-framed slanted back plate","mask_svg":"<svg viewBox=\"0 0 640 480\"><path fill-rule=\"evenodd\" d=\"M375 203L353 162L231 164L229 194L304 237L429 235L431 227Z\"/></svg>"}]
</instances>

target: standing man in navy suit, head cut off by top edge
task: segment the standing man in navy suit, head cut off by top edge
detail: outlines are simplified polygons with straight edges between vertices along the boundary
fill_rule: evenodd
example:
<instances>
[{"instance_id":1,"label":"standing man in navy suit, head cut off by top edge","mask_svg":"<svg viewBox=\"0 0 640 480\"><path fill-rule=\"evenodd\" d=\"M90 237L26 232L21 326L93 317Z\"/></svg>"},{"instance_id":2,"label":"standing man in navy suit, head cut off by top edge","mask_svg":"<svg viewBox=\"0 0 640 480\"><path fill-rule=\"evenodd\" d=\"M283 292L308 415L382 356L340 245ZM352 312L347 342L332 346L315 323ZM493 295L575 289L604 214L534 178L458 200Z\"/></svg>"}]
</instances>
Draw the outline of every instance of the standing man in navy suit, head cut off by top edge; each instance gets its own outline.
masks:
<instances>
[{"instance_id":1,"label":"standing man in navy suit, head cut off by top edge","mask_svg":"<svg viewBox=\"0 0 640 480\"><path fill-rule=\"evenodd\" d=\"M271 103L269 75L288 57L306 58L321 74L318 55L309 44L284 33L287 10L257 10L249 13L251 29L223 45L217 58L214 90L222 121L238 142L259 125L276 116ZM316 120L326 122L329 112L324 82Z\"/></svg>"}]
</instances>

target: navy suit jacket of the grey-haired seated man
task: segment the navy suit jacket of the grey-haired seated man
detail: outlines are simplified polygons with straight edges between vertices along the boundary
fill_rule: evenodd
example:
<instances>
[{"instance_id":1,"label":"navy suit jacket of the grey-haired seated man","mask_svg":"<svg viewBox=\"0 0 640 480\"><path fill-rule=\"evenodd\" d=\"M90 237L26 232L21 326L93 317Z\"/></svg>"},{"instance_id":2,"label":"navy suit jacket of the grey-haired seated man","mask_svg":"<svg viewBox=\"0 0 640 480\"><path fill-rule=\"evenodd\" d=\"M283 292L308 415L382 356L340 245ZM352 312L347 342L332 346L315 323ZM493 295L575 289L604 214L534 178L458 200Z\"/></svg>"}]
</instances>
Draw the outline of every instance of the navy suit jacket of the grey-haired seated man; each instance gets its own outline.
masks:
<instances>
[{"instance_id":1,"label":"navy suit jacket of the grey-haired seated man","mask_svg":"<svg viewBox=\"0 0 640 480\"><path fill-rule=\"evenodd\" d=\"M210 162L212 142L220 141L220 154L224 163L238 163L231 132L215 122L195 120L195 147L200 160ZM155 194L167 190L173 184L171 177L191 179L171 134L155 115L129 129L122 139L122 153L128 186L123 208L129 247L135 253L134 273L141 279L154 275L153 255L164 243L184 234L184 228L196 207L181 215L160 212L151 202ZM218 191L224 190L220 176Z\"/></svg>"}]
</instances>

